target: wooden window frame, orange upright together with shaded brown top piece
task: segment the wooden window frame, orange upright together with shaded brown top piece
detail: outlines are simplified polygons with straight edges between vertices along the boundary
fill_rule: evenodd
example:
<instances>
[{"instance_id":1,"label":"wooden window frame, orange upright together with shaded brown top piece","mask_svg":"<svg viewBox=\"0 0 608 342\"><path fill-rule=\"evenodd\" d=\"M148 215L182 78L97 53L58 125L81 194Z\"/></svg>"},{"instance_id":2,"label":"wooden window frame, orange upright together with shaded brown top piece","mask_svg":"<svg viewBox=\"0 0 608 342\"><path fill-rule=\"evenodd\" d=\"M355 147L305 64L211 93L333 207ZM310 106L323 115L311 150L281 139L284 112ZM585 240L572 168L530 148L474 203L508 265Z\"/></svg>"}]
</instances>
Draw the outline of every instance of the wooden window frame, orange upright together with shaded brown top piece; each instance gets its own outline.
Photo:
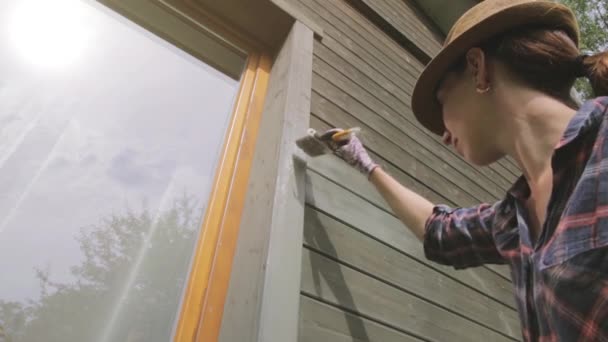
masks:
<instances>
[{"instance_id":1,"label":"wooden window frame, orange upright together with shaded brown top piece","mask_svg":"<svg viewBox=\"0 0 608 342\"><path fill-rule=\"evenodd\" d=\"M200 51L184 46L173 27L172 36L154 21L164 18L162 11L166 11L172 19L177 17L204 34L218 35L210 44L225 44L247 55L173 332L176 342L216 341L268 89L270 48L218 21L190 0L98 1L233 78L238 79L234 68L217 56L206 59Z\"/></svg>"}]
</instances>

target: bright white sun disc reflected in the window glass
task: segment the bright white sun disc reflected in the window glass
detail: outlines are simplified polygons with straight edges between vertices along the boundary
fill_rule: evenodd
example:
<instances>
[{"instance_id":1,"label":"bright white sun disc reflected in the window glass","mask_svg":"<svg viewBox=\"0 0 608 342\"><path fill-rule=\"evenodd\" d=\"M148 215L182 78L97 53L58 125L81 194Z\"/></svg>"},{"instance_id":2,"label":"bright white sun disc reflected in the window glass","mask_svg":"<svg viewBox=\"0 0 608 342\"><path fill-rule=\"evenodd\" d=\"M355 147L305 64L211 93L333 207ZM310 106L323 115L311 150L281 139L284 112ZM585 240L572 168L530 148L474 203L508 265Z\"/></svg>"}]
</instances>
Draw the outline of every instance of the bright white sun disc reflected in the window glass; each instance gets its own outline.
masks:
<instances>
[{"instance_id":1,"label":"bright white sun disc reflected in the window glass","mask_svg":"<svg viewBox=\"0 0 608 342\"><path fill-rule=\"evenodd\" d=\"M9 23L20 57L45 68L75 63L87 42L85 6L81 0L20 1Z\"/></svg>"}]
</instances>

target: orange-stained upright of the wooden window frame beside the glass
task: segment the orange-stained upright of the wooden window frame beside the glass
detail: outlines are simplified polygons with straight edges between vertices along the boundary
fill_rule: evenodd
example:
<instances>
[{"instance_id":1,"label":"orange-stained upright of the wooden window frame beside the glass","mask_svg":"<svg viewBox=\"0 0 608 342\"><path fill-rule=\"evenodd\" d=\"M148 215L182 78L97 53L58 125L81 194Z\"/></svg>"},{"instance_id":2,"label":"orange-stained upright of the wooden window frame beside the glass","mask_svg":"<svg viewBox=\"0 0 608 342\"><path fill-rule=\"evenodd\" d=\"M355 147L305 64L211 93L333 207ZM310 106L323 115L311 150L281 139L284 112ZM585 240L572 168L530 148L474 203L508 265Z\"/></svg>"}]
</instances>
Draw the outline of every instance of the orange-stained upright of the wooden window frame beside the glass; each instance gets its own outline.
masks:
<instances>
[{"instance_id":1,"label":"orange-stained upright of the wooden window frame beside the glass","mask_svg":"<svg viewBox=\"0 0 608 342\"><path fill-rule=\"evenodd\" d=\"M270 67L267 55L249 55L195 249L174 341L218 338Z\"/></svg>"}]
</instances>

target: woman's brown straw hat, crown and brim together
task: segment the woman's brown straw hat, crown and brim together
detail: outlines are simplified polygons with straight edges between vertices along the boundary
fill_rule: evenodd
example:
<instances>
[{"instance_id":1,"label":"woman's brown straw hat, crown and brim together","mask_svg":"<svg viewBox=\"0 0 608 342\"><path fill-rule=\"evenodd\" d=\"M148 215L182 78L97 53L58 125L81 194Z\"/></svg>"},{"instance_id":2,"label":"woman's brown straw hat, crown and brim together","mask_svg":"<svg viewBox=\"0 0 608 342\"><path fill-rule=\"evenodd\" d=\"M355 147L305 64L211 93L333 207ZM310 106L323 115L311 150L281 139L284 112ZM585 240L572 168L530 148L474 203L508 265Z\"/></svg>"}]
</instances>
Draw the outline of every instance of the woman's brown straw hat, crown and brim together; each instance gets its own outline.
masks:
<instances>
[{"instance_id":1,"label":"woman's brown straw hat, crown and brim together","mask_svg":"<svg viewBox=\"0 0 608 342\"><path fill-rule=\"evenodd\" d=\"M542 0L486 0L456 21L441 51L424 69L412 95L416 118L433 133L445 127L436 91L449 68L470 48L510 29L535 25L564 30L578 46L579 28L572 11L561 4Z\"/></svg>"}]
</instances>

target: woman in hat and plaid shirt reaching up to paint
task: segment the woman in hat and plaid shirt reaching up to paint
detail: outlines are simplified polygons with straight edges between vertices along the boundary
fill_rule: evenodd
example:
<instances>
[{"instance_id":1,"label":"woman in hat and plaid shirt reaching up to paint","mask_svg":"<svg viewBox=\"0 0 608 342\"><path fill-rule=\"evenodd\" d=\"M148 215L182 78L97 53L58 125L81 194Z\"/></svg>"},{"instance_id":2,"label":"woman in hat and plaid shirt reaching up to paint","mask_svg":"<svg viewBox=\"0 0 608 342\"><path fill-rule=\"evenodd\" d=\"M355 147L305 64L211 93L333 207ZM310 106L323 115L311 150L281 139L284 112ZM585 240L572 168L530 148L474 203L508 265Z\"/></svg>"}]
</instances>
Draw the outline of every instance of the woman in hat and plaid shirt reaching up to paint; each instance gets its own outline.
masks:
<instances>
[{"instance_id":1,"label":"woman in hat and plaid shirt reaching up to paint","mask_svg":"<svg viewBox=\"0 0 608 342\"><path fill-rule=\"evenodd\" d=\"M469 162L523 171L495 204L435 206L351 138L332 149L366 174L424 243L457 269L509 264L526 341L608 341L608 97L577 108L574 81L608 95L608 53L578 50L573 13L549 1L486 0L454 25L412 108ZM335 133L328 131L326 137Z\"/></svg>"}]
</instances>

